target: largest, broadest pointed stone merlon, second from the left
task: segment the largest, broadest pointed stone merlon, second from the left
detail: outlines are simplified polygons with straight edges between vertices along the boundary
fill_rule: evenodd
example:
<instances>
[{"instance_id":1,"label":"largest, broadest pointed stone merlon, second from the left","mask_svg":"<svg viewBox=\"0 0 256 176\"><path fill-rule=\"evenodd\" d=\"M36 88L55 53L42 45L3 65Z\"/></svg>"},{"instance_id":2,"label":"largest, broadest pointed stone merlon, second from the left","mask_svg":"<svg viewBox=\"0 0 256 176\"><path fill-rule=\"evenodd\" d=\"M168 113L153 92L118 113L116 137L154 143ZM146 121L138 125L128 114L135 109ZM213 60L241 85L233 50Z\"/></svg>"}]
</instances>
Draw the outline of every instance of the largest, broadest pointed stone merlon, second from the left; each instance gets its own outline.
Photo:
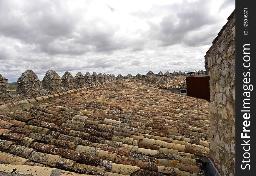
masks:
<instances>
[{"instance_id":1,"label":"largest, broadest pointed stone merlon, second from the left","mask_svg":"<svg viewBox=\"0 0 256 176\"><path fill-rule=\"evenodd\" d=\"M17 81L16 92L23 93L26 98L34 98L42 95L43 87L40 80L32 70L26 70Z\"/></svg>"}]
</instances>

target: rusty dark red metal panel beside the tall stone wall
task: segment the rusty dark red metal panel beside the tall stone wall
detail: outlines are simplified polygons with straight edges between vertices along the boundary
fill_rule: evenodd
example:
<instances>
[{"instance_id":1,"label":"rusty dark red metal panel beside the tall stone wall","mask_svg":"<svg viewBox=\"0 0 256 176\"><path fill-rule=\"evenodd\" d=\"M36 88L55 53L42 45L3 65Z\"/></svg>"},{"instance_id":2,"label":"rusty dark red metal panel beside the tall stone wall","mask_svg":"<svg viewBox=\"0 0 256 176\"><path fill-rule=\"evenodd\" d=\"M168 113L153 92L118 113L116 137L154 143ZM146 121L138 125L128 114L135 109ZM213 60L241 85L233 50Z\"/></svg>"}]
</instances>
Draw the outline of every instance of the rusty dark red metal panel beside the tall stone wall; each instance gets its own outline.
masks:
<instances>
[{"instance_id":1,"label":"rusty dark red metal panel beside the tall stone wall","mask_svg":"<svg viewBox=\"0 0 256 176\"><path fill-rule=\"evenodd\" d=\"M202 98L210 102L210 76L187 77L187 95Z\"/></svg>"}]
</instances>

